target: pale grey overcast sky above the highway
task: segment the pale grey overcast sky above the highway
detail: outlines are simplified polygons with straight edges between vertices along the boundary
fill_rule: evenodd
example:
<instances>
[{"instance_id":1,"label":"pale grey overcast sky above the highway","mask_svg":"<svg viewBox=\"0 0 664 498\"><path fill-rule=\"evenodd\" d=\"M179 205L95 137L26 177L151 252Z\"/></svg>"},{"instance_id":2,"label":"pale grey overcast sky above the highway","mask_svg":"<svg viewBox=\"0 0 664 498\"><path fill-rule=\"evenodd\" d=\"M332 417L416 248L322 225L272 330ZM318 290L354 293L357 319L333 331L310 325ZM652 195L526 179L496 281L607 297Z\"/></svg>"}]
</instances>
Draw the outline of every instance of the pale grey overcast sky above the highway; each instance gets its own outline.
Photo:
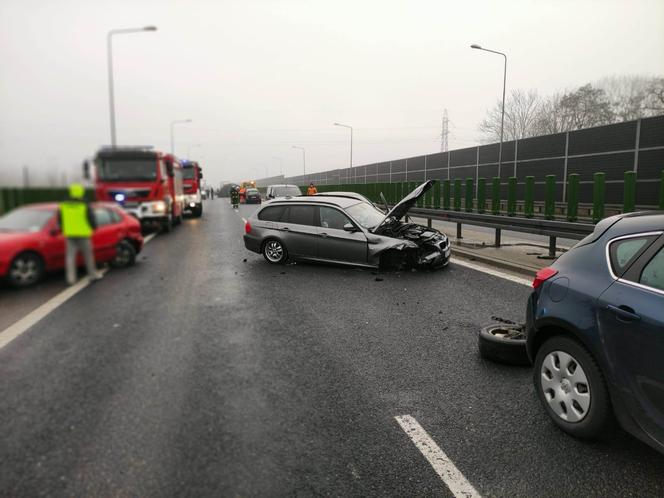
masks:
<instances>
[{"instance_id":1,"label":"pale grey overcast sky above the highway","mask_svg":"<svg viewBox=\"0 0 664 498\"><path fill-rule=\"evenodd\" d=\"M118 142L200 159L239 181L475 145L507 85L540 94L614 74L664 74L663 0L0 0L0 184L72 179L110 143L106 33ZM193 147L201 144L200 147Z\"/></svg>"}]
</instances>

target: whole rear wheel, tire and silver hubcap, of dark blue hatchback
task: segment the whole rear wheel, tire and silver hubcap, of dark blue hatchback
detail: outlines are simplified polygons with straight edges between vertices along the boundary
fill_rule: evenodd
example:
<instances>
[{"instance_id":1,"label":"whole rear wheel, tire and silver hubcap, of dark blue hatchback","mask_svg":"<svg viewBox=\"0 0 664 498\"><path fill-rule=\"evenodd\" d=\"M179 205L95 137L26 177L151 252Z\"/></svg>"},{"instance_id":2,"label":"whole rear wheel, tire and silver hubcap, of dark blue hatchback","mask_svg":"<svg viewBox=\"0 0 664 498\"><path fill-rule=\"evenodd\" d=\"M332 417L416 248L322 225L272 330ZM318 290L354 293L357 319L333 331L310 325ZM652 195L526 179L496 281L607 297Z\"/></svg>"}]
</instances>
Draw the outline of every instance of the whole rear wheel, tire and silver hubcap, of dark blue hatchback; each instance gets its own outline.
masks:
<instances>
[{"instance_id":1,"label":"whole rear wheel, tire and silver hubcap, of dark blue hatchback","mask_svg":"<svg viewBox=\"0 0 664 498\"><path fill-rule=\"evenodd\" d=\"M571 368L573 376L569 373ZM535 358L533 383L544 410L568 434L593 439L614 425L604 375L597 361L577 340L558 335L544 342Z\"/></svg>"}]
</instances>

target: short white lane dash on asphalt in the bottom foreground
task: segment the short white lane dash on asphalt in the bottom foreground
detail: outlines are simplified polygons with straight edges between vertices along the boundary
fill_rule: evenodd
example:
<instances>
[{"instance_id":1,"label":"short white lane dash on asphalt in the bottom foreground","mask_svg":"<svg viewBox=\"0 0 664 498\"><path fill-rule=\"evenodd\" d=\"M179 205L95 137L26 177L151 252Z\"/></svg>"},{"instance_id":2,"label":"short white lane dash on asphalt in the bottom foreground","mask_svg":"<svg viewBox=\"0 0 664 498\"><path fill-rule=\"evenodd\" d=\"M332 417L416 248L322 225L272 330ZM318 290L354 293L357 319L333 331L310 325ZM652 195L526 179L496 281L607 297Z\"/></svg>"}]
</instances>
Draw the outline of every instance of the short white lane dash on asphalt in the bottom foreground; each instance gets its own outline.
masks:
<instances>
[{"instance_id":1,"label":"short white lane dash on asphalt in the bottom foreground","mask_svg":"<svg viewBox=\"0 0 664 498\"><path fill-rule=\"evenodd\" d=\"M445 485L454 496L464 498L480 498L480 494L456 468L452 460L431 439L422 426L410 415L394 417L408 437L415 443L424 458L431 464Z\"/></svg>"}]
</instances>

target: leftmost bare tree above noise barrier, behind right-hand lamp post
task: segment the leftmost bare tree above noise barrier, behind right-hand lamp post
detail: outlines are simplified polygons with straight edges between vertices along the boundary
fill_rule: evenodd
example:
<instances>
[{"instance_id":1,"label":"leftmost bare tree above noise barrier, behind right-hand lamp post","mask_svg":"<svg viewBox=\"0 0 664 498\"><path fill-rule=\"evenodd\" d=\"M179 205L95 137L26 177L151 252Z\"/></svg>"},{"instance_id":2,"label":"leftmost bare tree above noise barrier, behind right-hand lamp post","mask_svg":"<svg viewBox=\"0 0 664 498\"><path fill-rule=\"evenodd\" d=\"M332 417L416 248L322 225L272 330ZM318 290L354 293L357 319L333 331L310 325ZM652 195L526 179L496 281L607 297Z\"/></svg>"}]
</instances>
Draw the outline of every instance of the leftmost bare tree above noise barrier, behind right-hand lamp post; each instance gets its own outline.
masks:
<instances>
[{"instance_id":1,"label":"leftmost bare tree above noise barrier, behind right-hand lamp post","mask_svg":"<svg viewBox=\"0 0 664 498\"><path fill-rule=\"evenodd\" d=\"M539 118L541 99L536 90L513 90L505 101L504 140L532 136ZM480 132L485 143L500 140L502 101L497 101L480 123Z\"/></svg>"}]
</instances>

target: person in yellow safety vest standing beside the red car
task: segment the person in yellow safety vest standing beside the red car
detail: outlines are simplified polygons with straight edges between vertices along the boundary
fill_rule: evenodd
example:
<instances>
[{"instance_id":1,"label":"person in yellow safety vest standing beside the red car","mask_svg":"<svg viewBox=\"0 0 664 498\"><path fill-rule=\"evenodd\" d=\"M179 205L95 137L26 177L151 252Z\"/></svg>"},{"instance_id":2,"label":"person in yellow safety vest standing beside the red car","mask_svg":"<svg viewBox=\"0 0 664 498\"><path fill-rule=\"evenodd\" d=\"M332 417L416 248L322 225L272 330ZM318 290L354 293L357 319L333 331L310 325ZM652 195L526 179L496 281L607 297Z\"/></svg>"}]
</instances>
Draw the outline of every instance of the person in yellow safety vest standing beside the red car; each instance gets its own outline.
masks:
<instances>
[{"instance_id":1,"label":"person in yellow safety vest standing beside the red car","mask_svg":"<svg viewBox=\"0 0 664 498\"><path fill-rule=\"evenodd\" d=\"M65 267L69 285L76 282L76 256L78 251L83 253L90 280L101 278L97 273L90 240L95 228L97 228L97 223L90 204L83 199L84 196L85 188L83 185L80 183L71 184L69 186L69 199L60 203L58 211L60 229L67 244Z\"/></svg>"}]
</instances>

